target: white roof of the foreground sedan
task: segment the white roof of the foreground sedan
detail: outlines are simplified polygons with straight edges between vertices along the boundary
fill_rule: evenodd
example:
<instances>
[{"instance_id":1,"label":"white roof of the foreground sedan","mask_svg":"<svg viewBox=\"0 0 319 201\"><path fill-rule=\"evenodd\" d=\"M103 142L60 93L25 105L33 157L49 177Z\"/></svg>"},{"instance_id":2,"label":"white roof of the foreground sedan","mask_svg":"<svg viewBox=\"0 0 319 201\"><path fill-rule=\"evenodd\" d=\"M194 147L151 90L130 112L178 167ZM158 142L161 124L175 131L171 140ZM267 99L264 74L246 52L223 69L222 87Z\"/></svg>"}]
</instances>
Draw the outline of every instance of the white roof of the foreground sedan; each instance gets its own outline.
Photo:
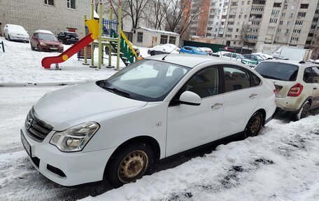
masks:
<instances>
[{"instance_id":1,"label":"white roof of the foreground sedan","mask_svg":"<svg viewBox=\"0 0 319 201\"><path fill-rule=\"evenodd\" d=\"M167 54L165 55L155 55L152 57L146 57L145 60L158 60L158 61L162 61L162 58L165 57ZM178 65L182 65L184 67L196 67L198 64L204 63L204 62L227 62L227 63L233 63L233 64L237 64L240 65L239 62L231 62L231 60L227 60L225 58L220 58L220 57L212 57L212 56L208 56L208 55L190 55L190 54L170 54L167 55L167 57L165 57L165 62L169 62L172 64L178 64Z\"/></svg>"}]
</instances>

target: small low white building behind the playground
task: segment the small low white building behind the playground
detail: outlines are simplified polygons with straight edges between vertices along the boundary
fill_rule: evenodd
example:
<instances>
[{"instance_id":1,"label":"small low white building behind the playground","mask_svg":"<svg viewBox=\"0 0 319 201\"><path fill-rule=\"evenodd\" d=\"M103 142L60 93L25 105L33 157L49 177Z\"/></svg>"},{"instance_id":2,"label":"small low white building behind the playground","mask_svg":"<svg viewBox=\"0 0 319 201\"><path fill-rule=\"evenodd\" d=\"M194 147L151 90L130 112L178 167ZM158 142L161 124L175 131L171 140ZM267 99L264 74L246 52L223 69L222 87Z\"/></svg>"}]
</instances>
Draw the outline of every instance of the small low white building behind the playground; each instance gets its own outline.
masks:
<instances>
[{"instance_id":1,"label":"small low white building behind the playground","mask_svg":"<svg viewBox=\"0 0 319 201\"><path fill-rule=\"evenodd\" d=\"M155 29L139 27L133 29L134 45L146 48L152 48L157 45L171 43L178 46L180 34L174 32L166 32Z\"/></svg>"}]
</instances>

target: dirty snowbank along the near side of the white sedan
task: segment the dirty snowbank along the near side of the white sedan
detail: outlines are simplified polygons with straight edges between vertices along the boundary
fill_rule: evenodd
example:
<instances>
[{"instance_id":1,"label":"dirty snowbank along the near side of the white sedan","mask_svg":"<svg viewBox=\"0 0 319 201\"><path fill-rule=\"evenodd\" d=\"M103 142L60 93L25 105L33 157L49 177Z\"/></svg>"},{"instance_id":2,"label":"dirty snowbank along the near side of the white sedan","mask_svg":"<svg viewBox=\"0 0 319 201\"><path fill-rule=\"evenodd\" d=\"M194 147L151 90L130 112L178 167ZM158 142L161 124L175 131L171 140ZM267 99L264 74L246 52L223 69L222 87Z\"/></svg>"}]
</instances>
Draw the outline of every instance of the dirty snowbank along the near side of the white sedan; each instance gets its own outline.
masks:
<instances>
[{"instance_id":1,"label":"dirty snowbank along the near side of the white sedan","mask_svg":"<svg viewBox=\"0 0 319 201\"><path fill-rule=\"evenodd\" d=\"M273 120L263 134L83 200L319 199L319 116Z\"/></svg>"}]
</instances>

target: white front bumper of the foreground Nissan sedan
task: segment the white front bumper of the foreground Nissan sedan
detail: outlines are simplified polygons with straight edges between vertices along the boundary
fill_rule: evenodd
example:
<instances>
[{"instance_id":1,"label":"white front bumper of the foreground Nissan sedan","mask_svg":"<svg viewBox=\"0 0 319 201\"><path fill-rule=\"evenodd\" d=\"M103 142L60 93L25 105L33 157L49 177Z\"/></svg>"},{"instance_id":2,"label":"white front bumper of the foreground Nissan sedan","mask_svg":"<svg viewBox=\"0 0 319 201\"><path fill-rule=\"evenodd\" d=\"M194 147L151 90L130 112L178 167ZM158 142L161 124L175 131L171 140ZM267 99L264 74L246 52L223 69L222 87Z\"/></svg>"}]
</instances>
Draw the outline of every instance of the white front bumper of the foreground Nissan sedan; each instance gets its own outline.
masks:
<instances>
[{"instance_id":1,"label":"white front bumper of the foreground Nissan sedan","mask_svg":"<svg viewBox=\"0 0 319 201\"><path fill-rule=\"evenodd\" d=\"M49 143L55 131L50 132L42 142L28 137L25 127L22 134L31 147L29 159L45 177L62 186L77 186L103 180L108 158L115 148L92 152L66 153Z\"/></svg>"}]
</instances>

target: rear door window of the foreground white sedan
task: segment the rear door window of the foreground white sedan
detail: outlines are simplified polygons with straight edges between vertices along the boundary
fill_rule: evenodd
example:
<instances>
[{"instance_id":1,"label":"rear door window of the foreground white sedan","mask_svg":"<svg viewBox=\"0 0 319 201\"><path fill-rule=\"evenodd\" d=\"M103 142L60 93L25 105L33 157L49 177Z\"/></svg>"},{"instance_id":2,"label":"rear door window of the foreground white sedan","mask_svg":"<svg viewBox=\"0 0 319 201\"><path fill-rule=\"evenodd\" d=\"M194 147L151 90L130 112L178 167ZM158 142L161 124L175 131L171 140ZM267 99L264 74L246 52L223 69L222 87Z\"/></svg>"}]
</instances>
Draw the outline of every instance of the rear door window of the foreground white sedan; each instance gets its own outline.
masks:
<instances>
[{"instance_id":1,"label":"rear door window of the foreground white sedan","mask_svg":"<svg viewBox=\"0 0 319 201\"><path fill-rule=\"evenodd\" d=\"M225 92L250 88L250 76L241 67L224 67Z\"/></svg>"}]
</instances>

